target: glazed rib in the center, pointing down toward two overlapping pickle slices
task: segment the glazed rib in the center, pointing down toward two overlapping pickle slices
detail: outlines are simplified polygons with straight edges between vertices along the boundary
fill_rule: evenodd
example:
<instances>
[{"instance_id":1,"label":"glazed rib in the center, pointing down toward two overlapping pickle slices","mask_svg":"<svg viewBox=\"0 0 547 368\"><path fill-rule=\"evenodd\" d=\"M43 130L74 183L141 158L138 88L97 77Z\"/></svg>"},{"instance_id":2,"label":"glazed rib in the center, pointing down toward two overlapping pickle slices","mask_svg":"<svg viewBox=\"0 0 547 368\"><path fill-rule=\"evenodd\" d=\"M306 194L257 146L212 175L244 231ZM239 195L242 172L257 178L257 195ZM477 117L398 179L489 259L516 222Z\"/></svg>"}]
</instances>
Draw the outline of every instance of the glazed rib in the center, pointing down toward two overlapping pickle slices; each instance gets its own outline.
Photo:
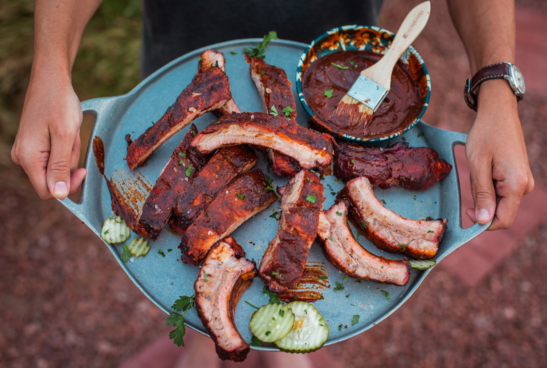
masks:
<instances>
[{"instance_id":1,"label":"glazed rib in the center, pointing down toward two overlapping pickle slices","mask_svg":"<svg viewBox=\"0 0 547 368\"><path fill-rule=\"evenodd\" d=\"M295 288L300 281L307 254L317 236L324 200L323 184L309 170L301 170L280 192L279 228L259 267L259 277L276 293Z\"/></svg>"}]
</instances>

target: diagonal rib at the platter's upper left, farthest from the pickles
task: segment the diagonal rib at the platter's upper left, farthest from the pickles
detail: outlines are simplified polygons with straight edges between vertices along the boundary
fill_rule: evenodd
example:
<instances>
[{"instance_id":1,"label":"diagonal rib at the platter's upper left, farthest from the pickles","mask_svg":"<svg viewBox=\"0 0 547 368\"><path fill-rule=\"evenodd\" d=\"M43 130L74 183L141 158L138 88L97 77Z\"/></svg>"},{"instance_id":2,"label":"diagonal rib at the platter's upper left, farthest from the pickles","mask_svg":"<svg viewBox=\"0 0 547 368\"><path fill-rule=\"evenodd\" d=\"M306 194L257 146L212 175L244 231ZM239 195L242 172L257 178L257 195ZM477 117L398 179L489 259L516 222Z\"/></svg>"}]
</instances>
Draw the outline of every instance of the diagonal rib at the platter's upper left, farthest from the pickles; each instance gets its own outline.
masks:
<instances>
[{"instance_id":1,"label":"diagonal rib at the platter's upper left, farthest from the pickles","mask_svg":"<svg viewBox=\"0 0 547 368\"><path fill-rule=\"evenodd\" d=\"M194 119L210 110L224 106L231 100L230 84L223 71L224 62L218 63L217 67L218 57L212 58L213 53L220 54L212 50L203 51L197 74L177 97L177 101L167 109L158 122L127 147L126 160L131 170L141 165L156 148ZM208 62L212 62L213 59L214 65L211 67ZM222 67L220 67L221 64Z\"/></svg>"}]
</instances>

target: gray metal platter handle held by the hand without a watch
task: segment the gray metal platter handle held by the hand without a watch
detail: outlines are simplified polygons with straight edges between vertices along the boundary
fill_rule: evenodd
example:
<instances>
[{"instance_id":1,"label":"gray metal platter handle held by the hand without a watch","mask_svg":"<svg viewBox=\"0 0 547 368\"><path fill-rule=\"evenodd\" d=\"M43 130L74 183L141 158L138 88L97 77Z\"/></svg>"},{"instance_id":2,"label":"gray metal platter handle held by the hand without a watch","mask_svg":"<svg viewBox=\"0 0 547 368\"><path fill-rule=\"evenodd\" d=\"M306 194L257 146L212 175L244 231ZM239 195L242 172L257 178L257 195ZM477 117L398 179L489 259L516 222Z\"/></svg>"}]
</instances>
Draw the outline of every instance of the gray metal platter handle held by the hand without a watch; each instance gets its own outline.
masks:
<instances>
[{"instance_id":1,"label":"gray metal platter handle held by the hand without a watch","mask_svg":"<svg viewBox=\"0 0 547 368\"><path fill-rule=\"evenodd\" d=\"M90 168L88 167L88 158L90 156L90 152L92 151L92 148L91 148L92 139L95 136L95 133L97 130L98 116L103 115L107 111L107 109L112 107L116 99L117 97L102 97L102 98L92 98L91 100L86 100L81 102L82 112L84 114L92 114L93 116L95 116L95 122L91 132L91 136L89 138L88 150L86 151L85 161L84 161L84 167L88 169L88 175L90 172ZM93 218L93 215L90 213L90 208L89 208L90 202L92 202L92 198L88 198L89 194L85 190L86 181L87 181L87 177L84 178L82 182L82 195L80 195L79 203L73 202L68 197L58 201L61 202L63 206L68 208L70 212L76 215L76 217L84 221L86 225L90 226L89 221L90 219Z\"/></svg>"}]
</instances>

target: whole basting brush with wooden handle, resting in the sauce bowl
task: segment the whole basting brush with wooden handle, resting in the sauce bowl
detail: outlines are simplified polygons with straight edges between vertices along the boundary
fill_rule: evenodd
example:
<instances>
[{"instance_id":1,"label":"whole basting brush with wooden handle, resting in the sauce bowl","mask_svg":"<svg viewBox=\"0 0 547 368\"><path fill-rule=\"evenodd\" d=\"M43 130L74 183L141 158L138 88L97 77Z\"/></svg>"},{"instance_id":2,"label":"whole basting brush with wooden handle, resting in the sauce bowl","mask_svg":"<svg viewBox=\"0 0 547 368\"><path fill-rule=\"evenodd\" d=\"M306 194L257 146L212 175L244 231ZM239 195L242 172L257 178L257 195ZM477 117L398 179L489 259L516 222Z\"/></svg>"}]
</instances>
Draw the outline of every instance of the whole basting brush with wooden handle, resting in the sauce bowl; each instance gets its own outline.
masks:
<instances>
[{"instance_id":1,"label":"whole basting brush with wooden handle, resting in the sauce bowl","mask_svg":"<svg viewBox=\"0 0 547 368\"><path fill-rule=\"evenodd\" d=\"M386 54L374 65L361 71L359 78L336 106L333 117L344 120L350 126L366 127L387 92L391 89L391 73L403 52L422 32L429 19L431 4L423 2L406 15Z\"/></svg>"}]
</instances>

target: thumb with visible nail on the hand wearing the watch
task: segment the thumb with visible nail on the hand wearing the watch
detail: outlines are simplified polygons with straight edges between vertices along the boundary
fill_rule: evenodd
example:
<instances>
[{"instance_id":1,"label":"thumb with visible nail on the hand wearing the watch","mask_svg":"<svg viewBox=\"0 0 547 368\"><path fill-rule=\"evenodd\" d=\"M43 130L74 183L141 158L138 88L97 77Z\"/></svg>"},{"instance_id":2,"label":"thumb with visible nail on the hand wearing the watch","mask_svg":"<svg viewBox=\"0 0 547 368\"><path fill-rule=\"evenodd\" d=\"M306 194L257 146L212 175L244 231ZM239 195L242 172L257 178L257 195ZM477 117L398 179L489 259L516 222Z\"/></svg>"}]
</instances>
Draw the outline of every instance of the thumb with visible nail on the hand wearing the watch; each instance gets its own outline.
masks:
<instances>
[{"instance_id":1,"label":"thumb with visible nail on the hand wearing the watch","mask_svg":"<svg viewBox=\"0 0 547 368\"><path fill-rule=\"evenodd\" d=\"M468 215L473 221L484 225L490 222L496 213L496 190L492 179L491 161L479 161L481 162L469 162L469 178L475 209L468 210Z\"/></svg>"}]
</instances>

